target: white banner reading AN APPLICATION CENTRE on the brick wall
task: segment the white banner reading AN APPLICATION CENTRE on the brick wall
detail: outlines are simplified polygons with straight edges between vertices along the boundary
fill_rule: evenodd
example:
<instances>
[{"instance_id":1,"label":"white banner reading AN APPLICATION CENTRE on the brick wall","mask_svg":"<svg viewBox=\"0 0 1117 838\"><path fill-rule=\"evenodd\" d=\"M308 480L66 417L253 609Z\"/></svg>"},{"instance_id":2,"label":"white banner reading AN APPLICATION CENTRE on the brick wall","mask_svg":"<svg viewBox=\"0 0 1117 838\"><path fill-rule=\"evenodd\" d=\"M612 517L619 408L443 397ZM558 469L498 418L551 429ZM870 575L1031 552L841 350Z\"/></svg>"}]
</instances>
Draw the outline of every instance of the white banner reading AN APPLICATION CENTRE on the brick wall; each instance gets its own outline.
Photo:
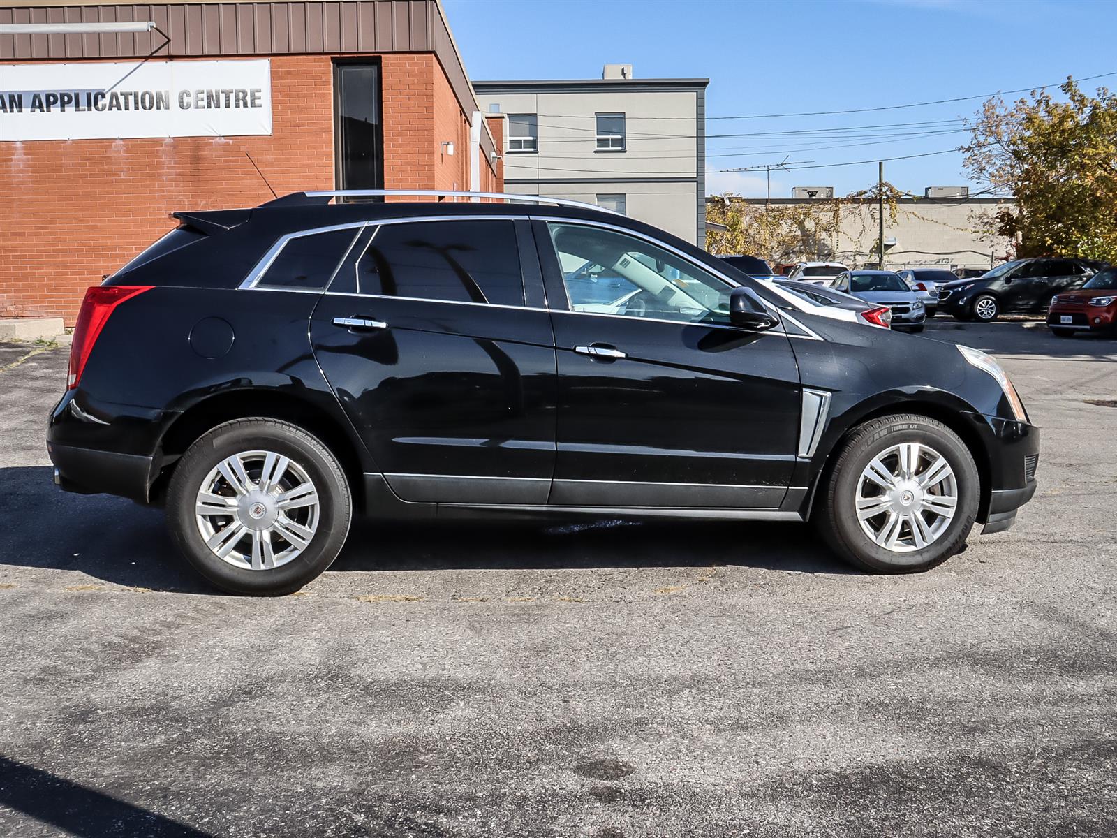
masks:
<instances>
[{"instance_id":1,"label":"white banner reading AN APPLICATION CENTRE on the brick wall","mask_svg":"<svg viewBox=\"0 0 1117 838\"><path fill-rule=\"evenodd\" d=\"M271 133L271 63L0 65L0 141Z\"/></svg>"}]
</instances>

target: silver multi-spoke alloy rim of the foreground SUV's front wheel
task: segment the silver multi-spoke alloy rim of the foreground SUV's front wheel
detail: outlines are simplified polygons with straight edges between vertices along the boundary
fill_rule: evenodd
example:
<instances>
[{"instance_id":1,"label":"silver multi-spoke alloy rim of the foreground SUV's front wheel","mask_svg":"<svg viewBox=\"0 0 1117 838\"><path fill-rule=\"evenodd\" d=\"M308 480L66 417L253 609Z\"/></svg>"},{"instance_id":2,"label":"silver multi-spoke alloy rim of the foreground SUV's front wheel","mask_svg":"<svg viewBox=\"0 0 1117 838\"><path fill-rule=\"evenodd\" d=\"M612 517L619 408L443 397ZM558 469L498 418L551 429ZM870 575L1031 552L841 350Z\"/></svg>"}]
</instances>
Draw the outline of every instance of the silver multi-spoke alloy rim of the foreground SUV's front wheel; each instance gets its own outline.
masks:
<instances>
[{"instance_id":1,"label":"silver multi-spoke alloy rim of the foreground SUV's front wheel","mask_svg":"<svg viewBox=\"0 0 1117 838\"><path fill-rule=\"evenodd\" d=\"M926 445L894 445L869 461L857 485L857 517L878 546L911 553L951 525L958 482L946 458Z\"/></svg>"}]
</instances>

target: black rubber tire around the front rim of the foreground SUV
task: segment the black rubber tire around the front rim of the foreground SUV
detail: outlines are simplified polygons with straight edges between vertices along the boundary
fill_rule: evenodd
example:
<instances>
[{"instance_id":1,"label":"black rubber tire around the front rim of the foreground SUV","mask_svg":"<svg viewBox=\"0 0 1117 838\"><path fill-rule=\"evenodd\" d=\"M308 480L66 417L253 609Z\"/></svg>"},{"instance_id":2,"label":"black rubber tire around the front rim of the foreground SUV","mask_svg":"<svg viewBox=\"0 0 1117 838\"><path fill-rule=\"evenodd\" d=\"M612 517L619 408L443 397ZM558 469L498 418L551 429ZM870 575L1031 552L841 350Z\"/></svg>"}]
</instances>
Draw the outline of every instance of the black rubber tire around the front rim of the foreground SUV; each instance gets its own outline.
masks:
<instances>
[{"instance_id":1,"label":"black rubber tire around the front rim of the foreground SUV","mask_svg":"<svg viewBox=\"0 0 1117 838\"><path fill-rule=\"evenodd\" d=\"M941 454L954 472L957 488L949 524L927 546L904 553L886 550L869 537L858 520L856 499L863 469L901 442L919 442ZM980 498L977 467L954 431L923 416L887 416L855 428L839 445L819 486L812 522L830 549L856 568L873 573L916 573L942 564L963 547L977 517Z\"/></svg>"}]
</instances>

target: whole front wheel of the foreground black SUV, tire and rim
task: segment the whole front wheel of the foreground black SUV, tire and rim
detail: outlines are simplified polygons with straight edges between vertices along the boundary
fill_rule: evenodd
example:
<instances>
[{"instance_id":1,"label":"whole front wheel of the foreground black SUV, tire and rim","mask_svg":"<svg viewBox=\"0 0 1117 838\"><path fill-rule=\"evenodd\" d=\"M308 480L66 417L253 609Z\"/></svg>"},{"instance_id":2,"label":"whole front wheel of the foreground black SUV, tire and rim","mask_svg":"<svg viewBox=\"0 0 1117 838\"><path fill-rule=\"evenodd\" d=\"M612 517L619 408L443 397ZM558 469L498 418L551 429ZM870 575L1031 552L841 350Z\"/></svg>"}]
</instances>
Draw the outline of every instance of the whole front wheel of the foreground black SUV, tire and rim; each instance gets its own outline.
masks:
<instances>
[{"instance_id":1,"label":"whole front wheel of the foreground black SUV, tire and rim","mask_svg":"<svg viewBox=\"0 0 1117 838\"><path fill-rule=\"evenodd\" d=\"M916 415L856 428L823 480L817 526L838 555L876 573L928 570L954 555L981 496L965 444Z\"/></svg>"}]
</instances>

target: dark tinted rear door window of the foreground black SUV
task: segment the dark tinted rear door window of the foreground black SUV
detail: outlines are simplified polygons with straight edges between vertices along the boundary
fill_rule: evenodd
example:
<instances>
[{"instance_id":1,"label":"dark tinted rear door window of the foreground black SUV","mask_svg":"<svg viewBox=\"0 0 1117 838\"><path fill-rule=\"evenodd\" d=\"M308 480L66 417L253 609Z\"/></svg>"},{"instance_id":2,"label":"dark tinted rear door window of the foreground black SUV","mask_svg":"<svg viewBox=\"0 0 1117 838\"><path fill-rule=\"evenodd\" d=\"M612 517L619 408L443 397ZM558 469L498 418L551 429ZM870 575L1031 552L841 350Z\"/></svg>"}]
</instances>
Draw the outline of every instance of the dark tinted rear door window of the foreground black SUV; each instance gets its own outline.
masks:
<instances>
[{"instance_id":1,"label":"dark tinted rear door window of the foreground black SUV","mask_svg":"<svg viewBox=\"0 0 1117 838\"><path fill-rule=\"evenodd\" d=\"M506 220L382 225L356 263L357 292L524 305L516 230Z\"/></svg>"}]
</instances>

